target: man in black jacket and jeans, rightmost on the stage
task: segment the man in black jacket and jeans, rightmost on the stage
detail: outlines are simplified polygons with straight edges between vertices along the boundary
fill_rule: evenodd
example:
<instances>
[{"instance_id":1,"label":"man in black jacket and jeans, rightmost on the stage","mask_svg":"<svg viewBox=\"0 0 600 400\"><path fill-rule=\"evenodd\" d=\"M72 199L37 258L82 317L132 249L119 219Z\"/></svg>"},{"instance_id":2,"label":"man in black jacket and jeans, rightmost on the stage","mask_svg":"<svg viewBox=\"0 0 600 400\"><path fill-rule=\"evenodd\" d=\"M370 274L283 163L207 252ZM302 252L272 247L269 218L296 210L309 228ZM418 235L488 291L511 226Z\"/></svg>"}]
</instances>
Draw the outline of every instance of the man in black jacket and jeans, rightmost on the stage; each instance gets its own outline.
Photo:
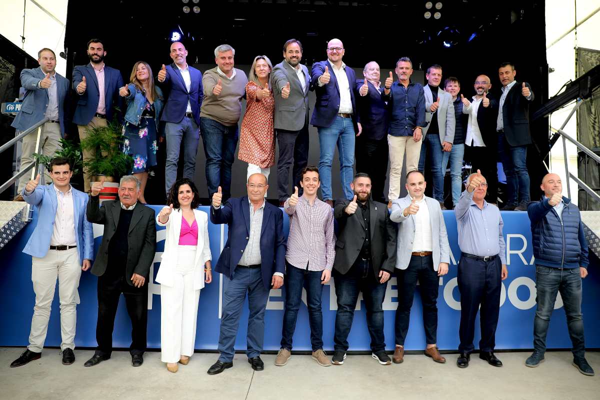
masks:
<instances>
[{"instance_id":1,"label":"man in black jacket and jeans, rightmost on the stage","mask_svg":"<svg viewBox=\"0 0 600 400\"><path fill-rule=\"evenodd\" d=\"M502 96L498 106L496 131L506 175L508 199L502 210L526 211L529 203L529 173L527 173L527 145L530 145L529 103L533 91L527 82L515 80L515 66L503 62L498 70Z\"/></svg>"}]
</instances>

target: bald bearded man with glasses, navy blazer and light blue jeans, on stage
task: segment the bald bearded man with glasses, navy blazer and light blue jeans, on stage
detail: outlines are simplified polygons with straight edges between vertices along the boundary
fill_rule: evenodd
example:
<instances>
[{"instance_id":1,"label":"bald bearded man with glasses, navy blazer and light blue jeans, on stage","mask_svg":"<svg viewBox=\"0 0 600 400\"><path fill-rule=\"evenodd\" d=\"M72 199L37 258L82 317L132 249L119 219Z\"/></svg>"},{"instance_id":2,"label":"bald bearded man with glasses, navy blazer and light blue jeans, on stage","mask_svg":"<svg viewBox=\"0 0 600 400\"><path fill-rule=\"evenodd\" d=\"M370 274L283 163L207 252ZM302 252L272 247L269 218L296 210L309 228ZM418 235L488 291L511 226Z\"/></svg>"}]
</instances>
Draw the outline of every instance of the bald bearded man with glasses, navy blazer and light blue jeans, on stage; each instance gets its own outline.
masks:
<instances>
[{"instance_id":1,"label":"bald bearded man with glasses, navy blazer and light blue jeans, on stage","mask_svg":"<svg viewBox=\"0 0 600 400\"><path fill-rule=\"evenodd\" d=\"M356 124L356 74L342 61L344 45L339 39L327 44L326 61L313 64L313 82L317 101L314 104L310 123L319 131L319 176L323 201L333 207L331 191L331 164L334 160L335 145L340 155L340 178L345 199L352 199L350 188L354 176L354 135L358 133Z\"/></svg>"}]
</instances>

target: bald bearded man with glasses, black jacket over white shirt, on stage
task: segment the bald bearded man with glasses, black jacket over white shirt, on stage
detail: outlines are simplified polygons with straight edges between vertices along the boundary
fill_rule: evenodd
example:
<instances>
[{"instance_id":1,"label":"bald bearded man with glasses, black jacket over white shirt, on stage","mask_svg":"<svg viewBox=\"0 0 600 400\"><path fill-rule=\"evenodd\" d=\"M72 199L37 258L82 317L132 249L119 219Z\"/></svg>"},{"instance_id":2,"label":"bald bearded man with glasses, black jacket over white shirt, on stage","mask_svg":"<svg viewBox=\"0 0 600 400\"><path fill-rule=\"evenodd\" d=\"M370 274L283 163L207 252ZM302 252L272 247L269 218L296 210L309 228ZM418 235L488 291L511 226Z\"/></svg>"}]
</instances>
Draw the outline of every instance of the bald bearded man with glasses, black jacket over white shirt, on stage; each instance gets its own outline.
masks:
<instances>
[{"instance_id":1,"label":"bald bearded man with glasses, black jacket over white shirt, on stage","mask_svg":"<svg viewBox=\"0 0 600 400\"><path fill-rule=\"evenodd\" d=\"M498 102L490 97L490 78L479 75L475 79L476 95L469 106L464 109L469 113L467 134L465 137L465 158L471 163L471 170L481 170L487 179L488 190L485 200L488 203L498 202L498 169L496 115Z\"/></svg>"}]
</instances>

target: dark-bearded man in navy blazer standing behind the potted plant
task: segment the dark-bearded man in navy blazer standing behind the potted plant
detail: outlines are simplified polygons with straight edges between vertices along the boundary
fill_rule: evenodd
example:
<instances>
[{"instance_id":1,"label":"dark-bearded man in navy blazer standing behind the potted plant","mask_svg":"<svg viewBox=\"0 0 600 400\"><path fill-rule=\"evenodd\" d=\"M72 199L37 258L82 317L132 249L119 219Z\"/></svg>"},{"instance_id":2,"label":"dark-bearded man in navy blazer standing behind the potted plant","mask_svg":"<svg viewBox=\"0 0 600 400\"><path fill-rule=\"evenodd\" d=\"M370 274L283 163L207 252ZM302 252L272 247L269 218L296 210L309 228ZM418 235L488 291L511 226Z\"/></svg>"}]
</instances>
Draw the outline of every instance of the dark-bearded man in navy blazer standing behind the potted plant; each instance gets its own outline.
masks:
<instances>
[{"instance_id":1,"label":"dark-bearded man in navy blazer standing behind the potted plant","mask_svg":"<svg viewBox=\"0 0 600 400\"><path fill-rule=\"evenodd\" d=\"M79 95L73 122L77 124L79 139L88 137L88 130L106 127L112 121L115 107L122 109L119 88L123 86L121 72L104 65L104 44L100 39L88 41L88 57L90 63L73 68L73 89ZM83 162L94 158L94 150L83 152ZM90 176L88 169L83 168L85 191L89 192Z\"/></svg>"}]
</instances>

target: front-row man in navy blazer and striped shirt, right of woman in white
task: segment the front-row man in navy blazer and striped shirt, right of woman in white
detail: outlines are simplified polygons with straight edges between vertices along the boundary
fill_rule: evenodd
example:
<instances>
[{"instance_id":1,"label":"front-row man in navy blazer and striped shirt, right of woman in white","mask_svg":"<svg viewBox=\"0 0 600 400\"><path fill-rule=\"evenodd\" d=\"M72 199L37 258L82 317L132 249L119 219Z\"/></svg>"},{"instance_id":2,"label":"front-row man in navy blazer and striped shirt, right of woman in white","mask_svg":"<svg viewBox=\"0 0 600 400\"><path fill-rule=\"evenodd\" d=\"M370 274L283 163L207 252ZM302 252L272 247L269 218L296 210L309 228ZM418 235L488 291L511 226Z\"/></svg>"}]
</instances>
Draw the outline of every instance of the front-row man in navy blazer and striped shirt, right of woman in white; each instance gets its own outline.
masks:
<instances>
[{"instance_id":1,"label":"front-row man in navy blazer and striped shirt, right of woman in white","mask_svg":"<svg viewBox=\"0 0 600 400\"><path fill-rule=\"evenodd\" d=\"M223 314L218 350L221 353L209 375L233 366L235 338L246 292L248 292L248 363L255 371L265 368L260 359L265 336L265 309L271 287L283 285L286 240L283 212L265 201L269 188L265 175L250 175L248 196L230 198L221 207L221 187L212 196L211 222L227 224L227 243L219 256L216 272L223 274Z\"/></svg>"}]
</instances>

